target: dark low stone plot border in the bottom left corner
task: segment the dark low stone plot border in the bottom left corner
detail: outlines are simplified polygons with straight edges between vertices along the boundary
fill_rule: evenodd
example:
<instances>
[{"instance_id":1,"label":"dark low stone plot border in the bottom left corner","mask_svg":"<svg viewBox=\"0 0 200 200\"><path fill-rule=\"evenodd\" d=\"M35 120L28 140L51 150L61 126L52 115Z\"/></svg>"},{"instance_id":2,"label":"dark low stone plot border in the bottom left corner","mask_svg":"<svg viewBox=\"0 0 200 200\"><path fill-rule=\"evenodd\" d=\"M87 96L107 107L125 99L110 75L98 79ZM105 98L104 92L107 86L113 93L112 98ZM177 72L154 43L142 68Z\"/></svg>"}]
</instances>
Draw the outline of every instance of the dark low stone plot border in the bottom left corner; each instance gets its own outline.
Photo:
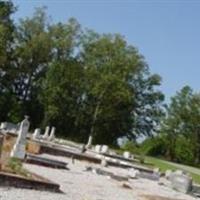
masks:
<instances>
[{"instance_id":1,"label":"dark low stone plot border in the bottom left corner","mask_svg":"<svg viewBox=\"0 0 200 200\"><path fill-rule=\"evenodd\" d=\"M42 177L37 176L37 179L28 179L19 175L3 172L0 172L0 186L61 192L60 185L46 180Z\"/></svg>"}]
</instances>

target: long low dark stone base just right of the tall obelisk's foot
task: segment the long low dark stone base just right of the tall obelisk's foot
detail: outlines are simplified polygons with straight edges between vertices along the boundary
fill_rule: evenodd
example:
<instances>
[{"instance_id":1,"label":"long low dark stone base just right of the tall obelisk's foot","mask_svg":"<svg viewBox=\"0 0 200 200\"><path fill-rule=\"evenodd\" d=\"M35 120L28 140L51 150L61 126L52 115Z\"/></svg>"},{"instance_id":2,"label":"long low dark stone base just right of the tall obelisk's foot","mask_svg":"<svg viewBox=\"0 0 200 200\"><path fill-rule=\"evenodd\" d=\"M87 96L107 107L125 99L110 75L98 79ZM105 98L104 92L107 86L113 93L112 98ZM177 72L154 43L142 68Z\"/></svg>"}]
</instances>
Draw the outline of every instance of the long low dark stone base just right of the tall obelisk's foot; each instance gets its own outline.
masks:
<instances>
[{"instance_id":1,"label":"long low dark stone base just right of the tall obelisk's foot","mask_svg":"<svg viewBox=\"0 0 200 200\"><path fill-rule=\"evenodd\" d=\"M68 169L66 162L61 162L58 160L53 160L49 158L44 158L41 156L36 156L32 154L27 154L25 158L26 163L41 165L45 167L57 168L57 169Z\"/></svg>"}]
</instances>

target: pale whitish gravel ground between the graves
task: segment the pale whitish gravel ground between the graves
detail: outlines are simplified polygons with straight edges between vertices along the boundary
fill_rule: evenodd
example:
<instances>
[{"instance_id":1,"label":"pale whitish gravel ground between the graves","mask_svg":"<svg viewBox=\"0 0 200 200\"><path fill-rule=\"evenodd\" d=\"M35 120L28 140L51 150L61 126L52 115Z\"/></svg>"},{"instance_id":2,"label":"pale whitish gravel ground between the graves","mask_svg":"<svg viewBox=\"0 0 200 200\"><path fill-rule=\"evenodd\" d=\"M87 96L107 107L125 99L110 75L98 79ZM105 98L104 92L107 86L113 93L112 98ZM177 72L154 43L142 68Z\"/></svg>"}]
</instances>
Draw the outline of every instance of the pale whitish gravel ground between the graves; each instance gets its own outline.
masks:
<instances>
[{"instance_id":1,"label":"pale whitish gravel ground between the graves","mask_svg":"<svg viewBox=\"0 0 200 200\"><path fill-rule=\"evenodd\" d=\"M85 167L89 165L86 162L75 161L75 164L72 164L71 159L68 158L43 156L68 162L70 170L52 169L30 164L24 164L24 167L60 184L63 194L27 189L0 188L0 200L148 200L143 195L158 195L173 200L195 199L146 179L132 179L129 181L132 189L123 188L121 186L122 183L118 181L84 171ZM125 173L123 169L109 167L108 170L119 174Z\"/></svg>"}]
</instances>

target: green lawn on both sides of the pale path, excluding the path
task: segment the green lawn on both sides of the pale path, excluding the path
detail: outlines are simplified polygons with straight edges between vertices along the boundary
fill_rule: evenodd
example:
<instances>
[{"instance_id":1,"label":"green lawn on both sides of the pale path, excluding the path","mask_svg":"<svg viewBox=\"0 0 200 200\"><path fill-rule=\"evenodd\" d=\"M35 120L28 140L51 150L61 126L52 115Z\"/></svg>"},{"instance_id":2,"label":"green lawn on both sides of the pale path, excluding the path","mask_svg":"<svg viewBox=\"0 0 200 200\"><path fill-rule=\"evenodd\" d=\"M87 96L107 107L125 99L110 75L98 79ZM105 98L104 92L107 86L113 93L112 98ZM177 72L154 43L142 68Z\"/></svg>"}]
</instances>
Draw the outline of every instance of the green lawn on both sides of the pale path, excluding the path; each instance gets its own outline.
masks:
<instances>
[{"instance_id":1,"label":"green lawn on both sides of the pale path, excluding the path","mask_svg":"<svg viewBox=\"0 0 200 200\"><path fill-rule=\"evenodd\" d=\"M168 163L164 163L161 159L158 158L152 158L152 157L145 157L145 163L148 164L148 166L151 166L149 164L152 164L152 167L158 167L161 172L165 172L167 169L171 169L171 170L177 170L177 169L181 169L175 166L172 166ZM196 174L196 173L190 173L189 174L192 176L194 182L200 184L200 175Z\"/></svg>"}]
</instances>

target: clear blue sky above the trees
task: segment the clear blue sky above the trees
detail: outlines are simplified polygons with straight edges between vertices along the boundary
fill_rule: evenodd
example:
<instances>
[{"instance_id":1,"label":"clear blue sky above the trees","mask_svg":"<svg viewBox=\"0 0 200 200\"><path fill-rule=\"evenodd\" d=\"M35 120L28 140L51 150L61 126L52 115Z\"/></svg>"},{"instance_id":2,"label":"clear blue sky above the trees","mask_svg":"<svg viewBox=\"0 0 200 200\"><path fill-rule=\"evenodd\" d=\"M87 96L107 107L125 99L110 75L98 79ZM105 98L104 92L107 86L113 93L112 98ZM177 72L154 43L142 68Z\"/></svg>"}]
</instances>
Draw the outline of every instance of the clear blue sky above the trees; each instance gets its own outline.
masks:
<instances>
[{"instance_id":1,"label":"clear blue sky above the trees","mask_svg":"<svg viewBox=\"0 0 200 200\"><path fill-rule=\"evenodd\" d=\"M120 33L145 57L160 90L171 96L189 85L200 92L200 0L13 0L14 19L46 6L54 22L75 17L99 33Z\"/></svg>"}]
</instances>

